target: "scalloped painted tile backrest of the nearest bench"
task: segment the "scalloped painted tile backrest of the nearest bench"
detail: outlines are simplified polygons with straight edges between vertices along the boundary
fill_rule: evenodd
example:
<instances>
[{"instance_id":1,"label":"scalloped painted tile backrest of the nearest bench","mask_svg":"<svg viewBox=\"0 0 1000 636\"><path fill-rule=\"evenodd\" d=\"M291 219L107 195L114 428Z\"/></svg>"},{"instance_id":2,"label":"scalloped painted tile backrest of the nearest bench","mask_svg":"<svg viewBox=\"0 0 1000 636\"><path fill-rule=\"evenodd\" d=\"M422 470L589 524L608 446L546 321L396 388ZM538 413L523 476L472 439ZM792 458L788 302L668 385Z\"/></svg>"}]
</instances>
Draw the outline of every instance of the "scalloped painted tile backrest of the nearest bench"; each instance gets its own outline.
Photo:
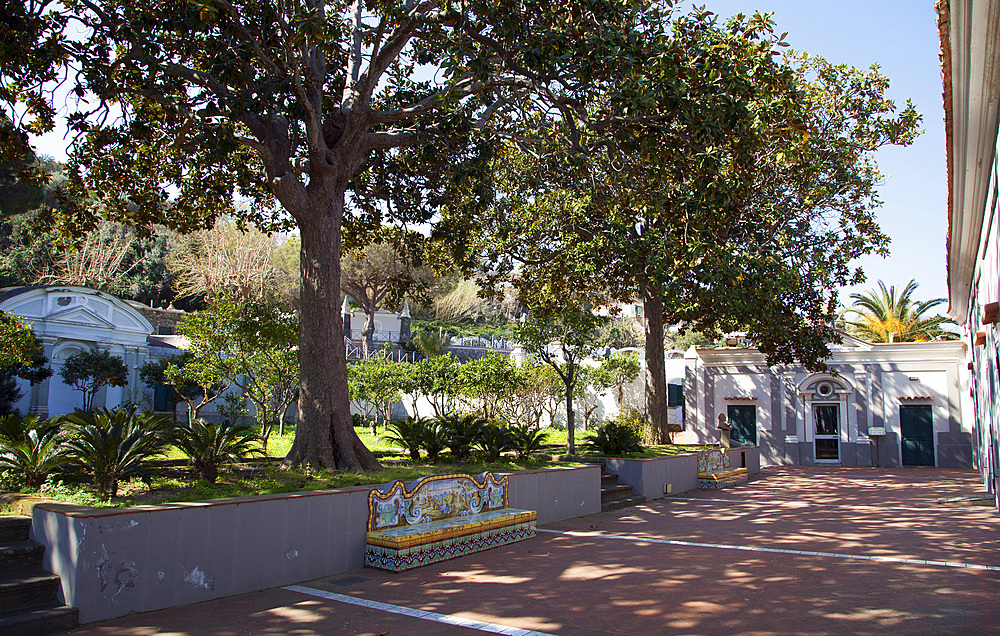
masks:
<instances>
[{"instance_id":1,"label":"scalloped painted tile backrest of the nearest bench","mask_svg":"<svg viewBox=\"0 0 1000 636\"><path fill-rule=\"evenodd\" d=\"M368 531L429 523L507 507L507 476L490 472L390 482L368 495Z\"/></svg>"}]
</instances>

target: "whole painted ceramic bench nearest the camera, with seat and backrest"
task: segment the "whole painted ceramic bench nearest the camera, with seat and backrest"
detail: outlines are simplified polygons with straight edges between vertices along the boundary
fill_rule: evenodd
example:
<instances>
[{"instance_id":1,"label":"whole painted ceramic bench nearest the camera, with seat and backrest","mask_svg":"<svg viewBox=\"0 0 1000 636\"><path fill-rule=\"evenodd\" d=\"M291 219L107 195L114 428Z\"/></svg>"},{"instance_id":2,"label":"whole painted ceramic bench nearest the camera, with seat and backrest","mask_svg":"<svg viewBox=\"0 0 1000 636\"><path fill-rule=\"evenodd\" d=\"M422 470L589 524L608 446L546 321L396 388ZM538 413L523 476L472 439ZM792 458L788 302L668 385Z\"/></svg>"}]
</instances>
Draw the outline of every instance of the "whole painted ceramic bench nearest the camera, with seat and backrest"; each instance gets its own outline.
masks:
<instances>
[{"instance_id":1,"label":"whole painted ceramic bench nearest the camera, with seat and backrest","mask_svg":"<svg viewBox=\"0 0 1000 636\"><path fill-rule=\"evenodd\" d=\"M534 510L507 507L507 476L434 475L368 495L365 565L400 572L535 536Z\"/></svg>"}]
</instances>

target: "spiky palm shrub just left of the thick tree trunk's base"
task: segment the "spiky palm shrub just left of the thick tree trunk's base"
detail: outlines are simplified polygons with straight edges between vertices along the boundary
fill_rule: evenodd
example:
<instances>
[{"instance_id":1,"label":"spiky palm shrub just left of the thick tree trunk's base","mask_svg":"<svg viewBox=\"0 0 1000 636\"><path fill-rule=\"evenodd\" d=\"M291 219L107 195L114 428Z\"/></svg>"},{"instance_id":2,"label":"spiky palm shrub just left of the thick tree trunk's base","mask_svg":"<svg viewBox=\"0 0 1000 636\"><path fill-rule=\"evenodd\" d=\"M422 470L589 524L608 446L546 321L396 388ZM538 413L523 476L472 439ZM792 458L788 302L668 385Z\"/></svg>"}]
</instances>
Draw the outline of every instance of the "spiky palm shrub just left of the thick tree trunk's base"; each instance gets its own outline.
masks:
<instances>
[{"instance_id":1,"label":"spiky palm shrub just left of the thick tree trunk's base","mask_svg":"<svg viewBox=\"0 0 1000 636\"><path fill-rule=\"evenodd\" d=\"M178 424L171 441L191 460L195 472L213 484L219 478L220 467L242 461L253 453L264 454L260 436L253 427L229 420L210 424L198 418Z\"/></svg>"}]
</instances>

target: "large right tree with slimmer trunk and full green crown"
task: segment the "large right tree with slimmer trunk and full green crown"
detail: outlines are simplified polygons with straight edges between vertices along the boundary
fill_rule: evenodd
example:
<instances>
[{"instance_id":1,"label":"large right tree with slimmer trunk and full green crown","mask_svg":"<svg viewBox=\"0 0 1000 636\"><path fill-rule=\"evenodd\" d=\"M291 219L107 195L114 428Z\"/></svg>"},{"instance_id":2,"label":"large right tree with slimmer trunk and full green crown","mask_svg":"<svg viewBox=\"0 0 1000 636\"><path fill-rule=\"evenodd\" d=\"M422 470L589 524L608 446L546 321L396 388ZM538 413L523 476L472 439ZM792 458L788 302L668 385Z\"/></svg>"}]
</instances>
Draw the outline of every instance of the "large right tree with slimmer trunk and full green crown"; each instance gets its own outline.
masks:
<instances>
[{"instance_id":1,"label":"large right tree with slimmer trunk and full green crown","mask_svg":"<svg viewBox=\"0 0 1000 636\"><path fill-rule=\"evenodd\" d=\"M667 433L664 325L747 330L772 363L822 365L829 307L883 251L873 153L906 145L877 69L780 55L769 16L693 11L647 34L586 126L546 122L547 147L511 144L483 224L494 278L568 285L600 272L641 299L646 401Z\"/></svg>"}]
</instances>

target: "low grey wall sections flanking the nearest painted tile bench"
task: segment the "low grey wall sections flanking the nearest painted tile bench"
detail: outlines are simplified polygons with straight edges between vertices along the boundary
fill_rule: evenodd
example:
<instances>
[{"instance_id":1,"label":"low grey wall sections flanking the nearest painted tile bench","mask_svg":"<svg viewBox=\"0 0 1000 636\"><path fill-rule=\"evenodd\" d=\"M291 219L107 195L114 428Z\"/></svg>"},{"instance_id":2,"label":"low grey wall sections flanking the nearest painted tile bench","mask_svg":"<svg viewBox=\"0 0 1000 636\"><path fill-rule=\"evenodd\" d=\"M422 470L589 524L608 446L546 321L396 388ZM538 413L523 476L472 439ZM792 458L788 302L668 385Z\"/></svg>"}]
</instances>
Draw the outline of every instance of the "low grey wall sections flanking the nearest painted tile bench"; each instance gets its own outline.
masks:
<instances>
[{"instance_id":1,"label":"low grey wall sections flanking the nearest painted tile bench","mask_svg":"<svg viewBox=\"0 0 1000 636\"><path fill-rule=\"evenodd\" d=\"M511 473L511 507L539 523L599 512L600 468ZM42 503L31 538L89 623L356 570L371 486L95 509Z\"/></svg>"}]
</instances>

